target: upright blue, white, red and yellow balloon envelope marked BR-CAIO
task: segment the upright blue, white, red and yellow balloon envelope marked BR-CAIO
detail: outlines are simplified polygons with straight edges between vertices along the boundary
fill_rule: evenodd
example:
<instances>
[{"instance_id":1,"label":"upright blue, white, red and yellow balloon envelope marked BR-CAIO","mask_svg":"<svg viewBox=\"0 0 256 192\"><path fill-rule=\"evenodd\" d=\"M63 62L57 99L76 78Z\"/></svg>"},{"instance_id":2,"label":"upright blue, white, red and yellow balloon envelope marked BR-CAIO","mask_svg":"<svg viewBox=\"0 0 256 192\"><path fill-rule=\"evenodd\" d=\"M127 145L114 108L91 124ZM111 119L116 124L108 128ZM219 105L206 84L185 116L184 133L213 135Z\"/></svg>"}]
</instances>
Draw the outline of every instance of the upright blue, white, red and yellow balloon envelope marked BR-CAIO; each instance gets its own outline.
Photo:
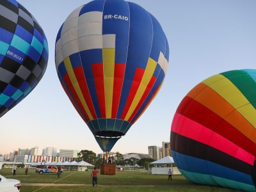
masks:
<instances>
[{"instance_id":1,"label":"upright blue, white, red and yellow balloon envelope marked BR-CAIO","mask_svg":"<svg viewBox=\"0 0 256 192\"><path fill-rule=\"evenodd\" d=\"M63 89L106 152L156 96L169 48L159 22L138 4L95 0L67 17L55 53Z\"/></svg>"}]
</instances>

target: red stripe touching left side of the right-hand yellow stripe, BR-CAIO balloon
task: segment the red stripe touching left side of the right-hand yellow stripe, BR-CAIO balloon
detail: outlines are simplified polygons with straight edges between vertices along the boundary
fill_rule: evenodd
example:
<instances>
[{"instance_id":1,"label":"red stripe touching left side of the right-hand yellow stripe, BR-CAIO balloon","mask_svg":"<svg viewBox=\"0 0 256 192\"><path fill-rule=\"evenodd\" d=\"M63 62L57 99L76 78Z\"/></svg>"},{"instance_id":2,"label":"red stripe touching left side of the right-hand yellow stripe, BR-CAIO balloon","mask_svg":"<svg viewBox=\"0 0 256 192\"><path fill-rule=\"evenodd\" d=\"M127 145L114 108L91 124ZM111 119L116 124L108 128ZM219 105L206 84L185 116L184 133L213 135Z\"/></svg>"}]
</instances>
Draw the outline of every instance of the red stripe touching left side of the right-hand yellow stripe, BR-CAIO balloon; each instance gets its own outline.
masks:
<instances>
[{"instance_id":1,"label":"red stripe touching left side of the right-hand yellow stripe, BR-CAIO balloon","mask_svg":"<svg viewBox=\"0 0 256 192\"><path fill-rule=\"evenodd\" d=\"M135 71L135 74L134 74L134 77L133 77L133 80L132 80L132 86L130 88L128 98L126 100L125 108L124 108L124 111L122 113L121 119L125 118L129 108L131 107L132 100L134 99L134 97L135 97L135 95L138 91L138 88L140 86L141 79L143 77L144 72L145 72L145 69L136 68L136 71Z\"/></svg>"}]
</instances>

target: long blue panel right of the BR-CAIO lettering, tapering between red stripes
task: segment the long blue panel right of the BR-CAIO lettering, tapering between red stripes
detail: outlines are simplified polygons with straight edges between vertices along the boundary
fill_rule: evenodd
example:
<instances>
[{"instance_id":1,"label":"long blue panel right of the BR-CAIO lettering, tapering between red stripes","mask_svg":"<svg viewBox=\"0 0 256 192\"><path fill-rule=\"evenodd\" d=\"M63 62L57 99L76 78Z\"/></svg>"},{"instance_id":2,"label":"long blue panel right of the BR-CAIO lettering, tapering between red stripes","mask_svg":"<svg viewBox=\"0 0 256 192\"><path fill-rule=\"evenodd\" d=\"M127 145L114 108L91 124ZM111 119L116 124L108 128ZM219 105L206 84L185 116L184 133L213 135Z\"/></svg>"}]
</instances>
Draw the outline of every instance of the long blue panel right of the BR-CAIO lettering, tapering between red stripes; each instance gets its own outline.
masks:
<instances>
[{"instance_id":1,"label":"long blue panel right of the BR-CAIO lettering, tapering between red stripes","mask_svg":"<svg viewBox=\"0 0 256 192\"><path fill-rule=\"evenodd\" d=\"M147 66L153 38L152 20L149 13L141 6L130 2L129 8L131 13L129 48L117 118L121 118L124 111L136 68L145 69Z\"/></svg>"}]
</instances>

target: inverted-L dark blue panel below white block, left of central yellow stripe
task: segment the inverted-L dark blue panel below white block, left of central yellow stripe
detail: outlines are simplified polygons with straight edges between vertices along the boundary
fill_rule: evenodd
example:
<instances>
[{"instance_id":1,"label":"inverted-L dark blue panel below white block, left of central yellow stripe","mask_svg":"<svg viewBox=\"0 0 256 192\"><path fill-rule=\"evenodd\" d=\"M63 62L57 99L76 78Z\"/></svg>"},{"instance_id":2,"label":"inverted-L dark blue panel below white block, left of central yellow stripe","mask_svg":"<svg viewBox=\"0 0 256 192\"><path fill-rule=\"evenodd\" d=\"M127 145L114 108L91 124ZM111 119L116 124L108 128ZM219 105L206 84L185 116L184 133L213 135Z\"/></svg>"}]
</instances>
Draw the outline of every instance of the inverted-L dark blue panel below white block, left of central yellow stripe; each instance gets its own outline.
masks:
<instances>
[{"instance_id":1,"label":"inverted-L dark blue panel below white block, left of central yellow stripe","mask_svg":"<svg viewBox=\"0 0 256 192\"><path fill-rule=\"evenodd\" d=\"M80 52L81 62L83 63L84 77L88 84L88 89L92 98L93 106L97 115L97 118L101 118L99 102L97 100L97 93L93 78L92 64L102 63L102 49L90 49Z\"/></svg>"}]
</instances>

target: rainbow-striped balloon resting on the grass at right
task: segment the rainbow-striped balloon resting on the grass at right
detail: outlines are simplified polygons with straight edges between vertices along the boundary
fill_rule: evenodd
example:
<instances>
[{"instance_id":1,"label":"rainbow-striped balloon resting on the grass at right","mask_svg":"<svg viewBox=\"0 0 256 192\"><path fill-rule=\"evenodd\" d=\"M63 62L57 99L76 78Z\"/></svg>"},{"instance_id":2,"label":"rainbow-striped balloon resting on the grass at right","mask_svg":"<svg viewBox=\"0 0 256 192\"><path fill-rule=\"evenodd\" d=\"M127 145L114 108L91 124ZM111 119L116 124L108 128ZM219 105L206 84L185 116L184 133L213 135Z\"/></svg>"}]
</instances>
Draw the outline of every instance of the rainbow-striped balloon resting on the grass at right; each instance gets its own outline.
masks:
<instances>
[{"instance_id":1,"label":"rainbow-striped balloon resting on the grass at right","mask_svg":"<svg viewBox=\"0 0 256 192\"><path fill-rule=\"evenodd\" d=\"M256 191L256 70L209 77L180 102L172 156L199 184Z\"/></svg>"}]
</instances>

